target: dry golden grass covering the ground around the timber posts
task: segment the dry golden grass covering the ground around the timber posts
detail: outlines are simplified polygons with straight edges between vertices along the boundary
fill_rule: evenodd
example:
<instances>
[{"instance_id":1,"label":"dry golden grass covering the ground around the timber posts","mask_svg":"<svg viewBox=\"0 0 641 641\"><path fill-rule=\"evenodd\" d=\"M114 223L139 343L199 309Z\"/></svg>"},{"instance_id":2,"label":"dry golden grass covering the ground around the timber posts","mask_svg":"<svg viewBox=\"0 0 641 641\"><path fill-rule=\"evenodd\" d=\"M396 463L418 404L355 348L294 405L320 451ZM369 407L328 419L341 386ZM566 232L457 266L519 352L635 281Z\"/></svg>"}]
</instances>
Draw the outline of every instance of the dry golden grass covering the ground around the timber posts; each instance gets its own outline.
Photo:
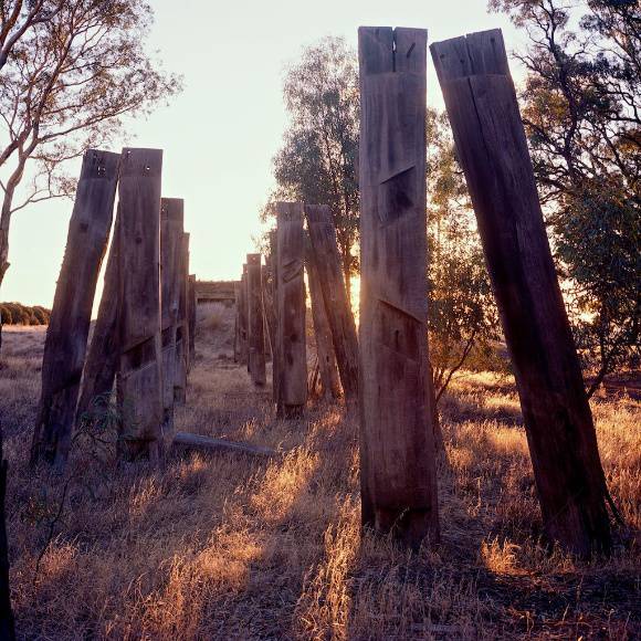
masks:
<instances>
[{"instance_id":1,"label":"dry golden grass covering the ground around the timber posts","mask_svg":"<svg viewBox=\"0 0 641 641\"><path fill-rule=\"evenodd\" d=\"M177 429L281 458L175 455L155 472L117 466L109 442L81 438L64 479L31 473L43 337L6 328L0 369L20 638L641 635L641 406L630 397L592 402L626 521L611 558L540 545L518 400L491 374L464 374L442 401L443 540L412 555L359 532L356 421L324 403L276 421L269 391L232 360L230 311L199 318Z\"/></svg>"}]
</instances>

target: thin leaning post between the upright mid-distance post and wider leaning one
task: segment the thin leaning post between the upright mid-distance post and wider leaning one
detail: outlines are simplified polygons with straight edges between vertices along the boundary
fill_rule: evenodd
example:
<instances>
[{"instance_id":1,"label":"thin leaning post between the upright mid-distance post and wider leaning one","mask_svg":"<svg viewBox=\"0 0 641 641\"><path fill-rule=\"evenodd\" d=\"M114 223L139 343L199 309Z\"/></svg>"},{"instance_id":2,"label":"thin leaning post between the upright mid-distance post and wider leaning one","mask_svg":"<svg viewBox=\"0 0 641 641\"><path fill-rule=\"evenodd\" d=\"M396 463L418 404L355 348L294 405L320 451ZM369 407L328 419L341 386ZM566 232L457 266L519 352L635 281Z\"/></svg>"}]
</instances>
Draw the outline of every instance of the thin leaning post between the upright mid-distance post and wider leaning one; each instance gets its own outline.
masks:
<instances>
[{"instance_id":1,"label":"thin leaning post between the upright mid-distance post and wider leaning one","mask_svg":"<svg viewBox=\"0 0 641 641\"><path fill-rule=\"evenodd\" d=\"M338 366L336 364L336 354L334 353L334 344L332 341L332 329L325 309L316 258L311 245L307 249L307 283L309 285L309 298L312 298L312 319L314 322L320 385L325 398L336 399L340 397L340 380Z\"/></svg>"}]
</instances>

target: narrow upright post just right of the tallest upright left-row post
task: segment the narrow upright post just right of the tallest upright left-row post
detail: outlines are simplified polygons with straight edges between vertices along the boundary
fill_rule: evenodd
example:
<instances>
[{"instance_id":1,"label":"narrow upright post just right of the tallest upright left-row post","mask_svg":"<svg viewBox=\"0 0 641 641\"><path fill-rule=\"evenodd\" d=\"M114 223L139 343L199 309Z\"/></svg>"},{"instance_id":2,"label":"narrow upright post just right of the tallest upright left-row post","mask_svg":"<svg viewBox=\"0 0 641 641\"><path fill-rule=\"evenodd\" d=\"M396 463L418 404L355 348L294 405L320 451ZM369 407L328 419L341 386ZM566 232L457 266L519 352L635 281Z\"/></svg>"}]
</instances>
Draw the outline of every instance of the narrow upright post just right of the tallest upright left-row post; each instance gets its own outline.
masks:
<instances>
[{"instance_id":1,"label":"narrow upright post just right of the tallest upright left-row post","mask_svg":"<svg viewBox=\"0 0 641 641\"><path fill-rule=\"evenodd\" d=\"M185 202L181 198L160 201L160 301L162 343L162 403L165 433L174 431L176 387L176 333L180 304L180 253L182 251Z\"/></svg>"}]
</instances>

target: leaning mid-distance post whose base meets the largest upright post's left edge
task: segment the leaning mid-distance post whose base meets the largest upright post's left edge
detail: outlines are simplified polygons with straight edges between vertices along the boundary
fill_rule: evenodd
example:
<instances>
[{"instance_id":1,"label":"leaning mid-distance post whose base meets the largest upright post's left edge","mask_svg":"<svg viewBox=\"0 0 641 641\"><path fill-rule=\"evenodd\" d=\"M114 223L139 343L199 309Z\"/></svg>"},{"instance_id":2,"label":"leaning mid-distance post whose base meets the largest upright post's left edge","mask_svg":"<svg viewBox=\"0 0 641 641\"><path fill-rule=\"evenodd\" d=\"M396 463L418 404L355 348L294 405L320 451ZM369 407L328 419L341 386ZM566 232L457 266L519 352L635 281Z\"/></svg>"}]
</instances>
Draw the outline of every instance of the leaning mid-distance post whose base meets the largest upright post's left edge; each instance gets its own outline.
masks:
<instances>
[{"instance_id":1,"label":"leaning mid-distance post whose base meets the largest upright post's left edge","mask_svg":"<svg viewBox=\"0 0 641 641\"><path fill-rule=\"evenodd\" d=\"M351 303L347 297L343 277L332 213L325 204L305 204L305 213L343 391L348 402L356 401L358 399L358 339Z\"/></svg>"}]
</instances>

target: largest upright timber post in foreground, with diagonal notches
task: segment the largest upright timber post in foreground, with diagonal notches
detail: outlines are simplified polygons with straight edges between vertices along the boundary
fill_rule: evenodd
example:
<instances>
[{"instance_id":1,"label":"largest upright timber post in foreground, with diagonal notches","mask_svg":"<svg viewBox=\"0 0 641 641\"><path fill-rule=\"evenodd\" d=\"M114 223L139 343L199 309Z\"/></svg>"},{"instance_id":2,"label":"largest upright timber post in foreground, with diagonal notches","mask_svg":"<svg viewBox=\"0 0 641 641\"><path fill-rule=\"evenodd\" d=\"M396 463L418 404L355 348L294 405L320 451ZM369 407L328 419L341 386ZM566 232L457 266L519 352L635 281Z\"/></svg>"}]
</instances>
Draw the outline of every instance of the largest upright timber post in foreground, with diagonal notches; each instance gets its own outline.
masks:
<instances>
[{"instance_id":1,"label":"largest upright timber post in foreground, with diagonal notches","mask_svg":"<svg viewBox=\"0 0 641 641\"><path fill-rule=\"evenodd\" d=\"M362 524L439 539L427 341L422 29L360 28Z\"/></svg>"}]
</instances>

